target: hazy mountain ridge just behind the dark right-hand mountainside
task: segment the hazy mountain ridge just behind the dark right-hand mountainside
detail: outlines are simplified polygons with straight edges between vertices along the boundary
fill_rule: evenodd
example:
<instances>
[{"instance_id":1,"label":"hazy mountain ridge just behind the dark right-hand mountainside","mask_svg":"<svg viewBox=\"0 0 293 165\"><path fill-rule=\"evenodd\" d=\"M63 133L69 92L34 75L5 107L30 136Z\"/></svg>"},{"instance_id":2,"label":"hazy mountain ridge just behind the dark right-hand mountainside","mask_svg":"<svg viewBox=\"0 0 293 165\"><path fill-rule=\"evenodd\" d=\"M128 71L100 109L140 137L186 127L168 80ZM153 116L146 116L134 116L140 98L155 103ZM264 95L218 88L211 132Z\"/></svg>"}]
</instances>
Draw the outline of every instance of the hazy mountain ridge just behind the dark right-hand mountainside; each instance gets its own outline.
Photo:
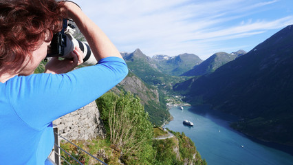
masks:
<instances>
[{"instance_id":1,"label":"hazy mountain ridge just behind the dark right-hand mountainside","mask_svg":"<svg viewBox=\"0 0 293 165\"><path fill-rule=\"evenodd\" d=\"M193 69L189 70L182 74L182 76L202 76L205 74L210 74L215 72L216 69L221 67L222 65L235 60L238 56L246 54L245 51L239 50L237 52L232 52L228 54L226 52L218 52L210 56L206 61L202 62L199 65L196 65Z\"/></svg>"}]
</instances>

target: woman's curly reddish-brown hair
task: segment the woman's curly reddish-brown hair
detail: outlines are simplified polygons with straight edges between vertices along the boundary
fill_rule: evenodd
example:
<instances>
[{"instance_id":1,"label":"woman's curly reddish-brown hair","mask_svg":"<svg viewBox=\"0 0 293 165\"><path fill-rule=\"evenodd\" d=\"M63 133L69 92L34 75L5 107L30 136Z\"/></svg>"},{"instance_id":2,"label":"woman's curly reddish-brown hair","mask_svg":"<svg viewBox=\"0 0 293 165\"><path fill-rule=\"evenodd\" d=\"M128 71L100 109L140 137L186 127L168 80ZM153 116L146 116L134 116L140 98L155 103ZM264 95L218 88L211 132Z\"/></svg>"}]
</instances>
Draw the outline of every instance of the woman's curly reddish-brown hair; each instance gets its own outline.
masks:
<instances>
[{"instance_id":1,"label":"woman's curly reddish-brown hair","mask_svg":"<svg viewBox=\"0 0 293 165\"><path fill-rule=\"evenodd\" d=\"M56 0L0 0L0 70L20 69L40 41L60 32L66 17L63 7Z\"/></svg>"}]
</instances>

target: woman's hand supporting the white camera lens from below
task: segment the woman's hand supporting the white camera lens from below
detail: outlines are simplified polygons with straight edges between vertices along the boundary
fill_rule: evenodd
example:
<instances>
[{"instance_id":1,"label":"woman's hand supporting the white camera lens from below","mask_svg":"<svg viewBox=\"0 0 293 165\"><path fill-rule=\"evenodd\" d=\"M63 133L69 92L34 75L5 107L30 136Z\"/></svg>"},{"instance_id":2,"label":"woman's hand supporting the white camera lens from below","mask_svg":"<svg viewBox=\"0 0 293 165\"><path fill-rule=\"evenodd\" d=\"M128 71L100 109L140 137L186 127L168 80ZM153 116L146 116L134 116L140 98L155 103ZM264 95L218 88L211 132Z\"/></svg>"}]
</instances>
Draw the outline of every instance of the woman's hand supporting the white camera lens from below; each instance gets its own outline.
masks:
<instances>
[{"instance_id":1,"label":"woman's hand supporting the white camera lens from below","mask_svg":"<svg viewBox=\"0 0 293 165\"><path fill-rule=\"evenodd\" d=\"M73 59L59 60L58 57L52 57L45 65L45 73L47 74L65 74L72 71L75 67L83 63L83 52L79 47L75 47L71 52Z\"/></svg>"}]
</instances>

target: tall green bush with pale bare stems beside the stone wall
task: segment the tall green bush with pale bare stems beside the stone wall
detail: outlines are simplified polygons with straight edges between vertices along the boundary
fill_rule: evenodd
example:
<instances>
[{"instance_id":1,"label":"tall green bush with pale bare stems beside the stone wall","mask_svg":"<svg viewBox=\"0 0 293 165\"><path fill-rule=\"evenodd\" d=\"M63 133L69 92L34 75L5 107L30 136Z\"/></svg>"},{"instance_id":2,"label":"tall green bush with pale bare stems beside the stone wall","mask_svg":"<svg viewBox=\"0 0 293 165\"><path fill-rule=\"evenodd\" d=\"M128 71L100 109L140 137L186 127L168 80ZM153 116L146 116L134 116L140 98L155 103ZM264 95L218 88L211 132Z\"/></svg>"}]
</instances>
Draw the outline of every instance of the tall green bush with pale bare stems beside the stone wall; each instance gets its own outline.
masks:
<instances>
[{"instance_id":1,"label":"tall green bush with pale bare stems beside the stone wall","mask_svg":"<svg viewBox=\"0 0 293 165\"><path fill-rule=\"evenodd\" d=\"M109 101L113 105L106 107ZM104 119L107 115L105 122L109 126L107 132L111 144L121 151L123 161L132 162L137 157L147 159L147 155L141 153L153 137L153 127L140 99L129 93L118 97L110 92L98 98L97 102Z\"/></svg>"}]
</instances>

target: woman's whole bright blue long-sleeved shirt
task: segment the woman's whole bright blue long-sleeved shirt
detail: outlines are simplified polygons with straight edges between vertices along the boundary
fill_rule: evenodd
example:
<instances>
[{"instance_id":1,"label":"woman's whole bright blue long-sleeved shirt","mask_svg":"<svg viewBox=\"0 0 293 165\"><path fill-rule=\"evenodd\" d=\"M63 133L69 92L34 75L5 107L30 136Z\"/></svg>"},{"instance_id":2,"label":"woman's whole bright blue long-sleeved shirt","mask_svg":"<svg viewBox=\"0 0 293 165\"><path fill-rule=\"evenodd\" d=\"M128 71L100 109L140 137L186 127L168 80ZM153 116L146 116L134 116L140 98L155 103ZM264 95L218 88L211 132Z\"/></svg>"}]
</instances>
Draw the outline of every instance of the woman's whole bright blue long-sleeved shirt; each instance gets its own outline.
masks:
<instances>
[{"instance_id":1,"label":"woman's whole bright blue long-sleeved shirt","mask_svg":"<svg viewBox=\"0 0 293 165\"><path fill-rule=\"evenodd\" d=\"M45 164L52 151L52 121L96 100L128 69L118 57L67 74L14 76L0 83L0 164Z\"/></svg>"}]
</instances>

